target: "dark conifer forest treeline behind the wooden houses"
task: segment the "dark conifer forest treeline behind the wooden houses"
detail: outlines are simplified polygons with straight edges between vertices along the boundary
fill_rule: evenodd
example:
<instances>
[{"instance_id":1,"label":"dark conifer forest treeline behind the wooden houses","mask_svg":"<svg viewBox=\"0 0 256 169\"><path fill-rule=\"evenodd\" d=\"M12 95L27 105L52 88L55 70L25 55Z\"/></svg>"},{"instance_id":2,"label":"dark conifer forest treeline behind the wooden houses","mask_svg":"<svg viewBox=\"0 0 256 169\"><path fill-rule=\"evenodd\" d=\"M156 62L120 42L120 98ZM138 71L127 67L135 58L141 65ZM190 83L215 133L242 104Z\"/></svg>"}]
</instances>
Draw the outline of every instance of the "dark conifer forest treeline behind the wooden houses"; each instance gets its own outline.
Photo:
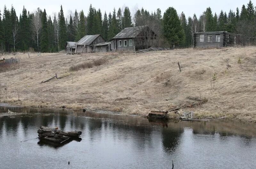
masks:
<instances>
[{"instance_id":1,"label":"dark conifer forest treeline behind the wooden houses","mask_svg":"<svg viewBox=\"0 0 256 169\"><path fill-rule=\"evenodd\" d=\"M75 10L65 18L62 6L60 12L52 16L47 15L45 9L29 12L23 6L19 17L13 6L11 9L4 6L0 11L0 51L57 52L64 49L66 41L77 42L84 35L101 34L109 40L126 27L143 25L158 35L154 46L191 47L193 33L208 31L241 34L242 44L255 44L256 8L249 1L241 10L238 7L228 13L221 10L217 15L208 7L199 18L194 14L186 19L184 12L178 15L173 7L169 7L163 17L160 9L149 12L141 8L132 18L128 7L102 14L90 5L87 15L83 10Z\"/></svg>"}]
</instances>

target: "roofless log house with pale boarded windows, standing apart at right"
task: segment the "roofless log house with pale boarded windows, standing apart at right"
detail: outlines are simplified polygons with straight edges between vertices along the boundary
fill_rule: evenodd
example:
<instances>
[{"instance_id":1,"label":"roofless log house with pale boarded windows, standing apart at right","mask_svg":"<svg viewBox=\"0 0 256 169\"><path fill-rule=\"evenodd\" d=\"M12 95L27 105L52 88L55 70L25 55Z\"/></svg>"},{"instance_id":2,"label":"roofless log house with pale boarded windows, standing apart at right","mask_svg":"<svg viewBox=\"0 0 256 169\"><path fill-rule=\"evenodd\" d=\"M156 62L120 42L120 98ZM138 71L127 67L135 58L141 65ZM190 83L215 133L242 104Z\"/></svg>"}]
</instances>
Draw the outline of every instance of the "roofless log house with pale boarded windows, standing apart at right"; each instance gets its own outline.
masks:
<instances>
[{"instance_id":1,"label":"roofless log house with pale boarded windows, standing apart at right","mask_svg":"<svg viewBox=\"0 0 256 169\"><path fill-rule=\"evenodd\" d=\"M193 47L227 47L236 46L236 34L228 32L197 32L193 34Z\"/></svg>"}]
</instances>

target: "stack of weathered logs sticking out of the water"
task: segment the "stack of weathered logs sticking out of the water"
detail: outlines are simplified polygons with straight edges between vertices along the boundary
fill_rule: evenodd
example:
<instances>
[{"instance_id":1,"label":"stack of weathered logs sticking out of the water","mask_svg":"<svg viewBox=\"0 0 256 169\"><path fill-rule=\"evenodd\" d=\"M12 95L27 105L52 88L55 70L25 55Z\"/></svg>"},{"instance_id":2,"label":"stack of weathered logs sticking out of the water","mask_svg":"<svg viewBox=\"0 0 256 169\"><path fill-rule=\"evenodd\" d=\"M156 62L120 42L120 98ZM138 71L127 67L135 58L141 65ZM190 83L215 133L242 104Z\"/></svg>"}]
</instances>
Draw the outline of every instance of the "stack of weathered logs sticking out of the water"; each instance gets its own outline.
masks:
<instances>
[{"instance_id":1,"label":"stack of weathered logs sticking out of the water","mask_svg":"<svg viewBox=\"0 0 256 169\"><path fill-rule=\"evenodd\" d=\"M68 140L74 139L81 139L80 135L82 134L81 131L62 131L59 130L59 127L45 127L40 126L40 129L37 130L38 138L40 140L63 143Z\"/></svg>"}]
</instances>

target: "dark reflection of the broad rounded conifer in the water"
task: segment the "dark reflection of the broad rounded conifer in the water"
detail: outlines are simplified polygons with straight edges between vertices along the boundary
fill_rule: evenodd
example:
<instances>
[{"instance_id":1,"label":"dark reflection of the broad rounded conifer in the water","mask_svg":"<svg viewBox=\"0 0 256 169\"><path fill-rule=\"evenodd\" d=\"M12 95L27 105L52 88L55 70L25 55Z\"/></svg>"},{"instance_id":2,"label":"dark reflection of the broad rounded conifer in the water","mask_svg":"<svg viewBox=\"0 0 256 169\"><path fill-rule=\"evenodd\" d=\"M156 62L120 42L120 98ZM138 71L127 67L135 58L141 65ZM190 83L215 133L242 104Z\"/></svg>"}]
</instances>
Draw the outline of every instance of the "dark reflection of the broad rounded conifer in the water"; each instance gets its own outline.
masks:
<instances>
[{"instance_id":1,"label":"dark reflection of the broad rounded conifer in the water","mask_svg":"<svg viewBox=\"0 0 256 169\"><path fill-rule=\"evenodd\" d=\"M167 153L175 151L181 141L181 135L183 134L183 128L163 128L162 129L162 142L163 149Z\"/></svg>"}]
</instances>

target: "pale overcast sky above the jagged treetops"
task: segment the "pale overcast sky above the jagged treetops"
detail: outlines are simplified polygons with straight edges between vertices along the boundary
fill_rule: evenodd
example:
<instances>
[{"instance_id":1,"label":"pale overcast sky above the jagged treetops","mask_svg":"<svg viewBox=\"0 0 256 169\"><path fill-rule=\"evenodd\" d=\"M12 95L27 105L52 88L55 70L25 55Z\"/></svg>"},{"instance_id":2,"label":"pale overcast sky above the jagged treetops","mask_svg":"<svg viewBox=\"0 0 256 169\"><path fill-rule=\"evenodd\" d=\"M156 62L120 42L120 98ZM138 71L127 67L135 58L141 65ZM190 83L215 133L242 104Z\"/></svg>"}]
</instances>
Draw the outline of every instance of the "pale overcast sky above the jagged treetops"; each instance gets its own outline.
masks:
<instances>
[{"instance_id":1,"label":"pale overcast sky above the jagged treetops","mask_svg":"<svg viewBox=\"0 0 256 169\"><path fill-rule=\"evenodd\" d=\"M197 18L199 18L199 15L201 15L203 11L205 11L205 9L209 6L212 8L213 13L216 12L217 15L219 15L220 10L226 11L228 13L230 9L235 11L236 7L241 9L242 5L247 5L248 2L249 0L1 0L0 10L1 13L3 13L4 5L6 5L8 9L10 9L11 5L13 4L16 13L19 16L22 12L22 8L24 5L25 8L30 12L34 11L36 8L39 7L41 9L45 8L46 13L48 15L52 15L53 12L60 11L60 5L62 4L64 16L66 17L68 13L70 13L70 10L74 12L75 9L78 12L84 10L84 13L87 16L90 4L92 4L92 6L95 7L97 10L100 8L102 15L104 14L104 11L106 11L107 13L112 13L114 7L117 11L119 7L122 8L125 5L130 8L132 14L134 13L135 9L143 7L150 12L154 12L157 8L160 8L163 15L164 11L168 7L172 6L177 10L178 14L183 11L186 15L186 18L188 18L188 16L192 16L194 13L196 13ZM252 0L252 3L256 5L256 0Z\"/></svg>"}]
</instances>

